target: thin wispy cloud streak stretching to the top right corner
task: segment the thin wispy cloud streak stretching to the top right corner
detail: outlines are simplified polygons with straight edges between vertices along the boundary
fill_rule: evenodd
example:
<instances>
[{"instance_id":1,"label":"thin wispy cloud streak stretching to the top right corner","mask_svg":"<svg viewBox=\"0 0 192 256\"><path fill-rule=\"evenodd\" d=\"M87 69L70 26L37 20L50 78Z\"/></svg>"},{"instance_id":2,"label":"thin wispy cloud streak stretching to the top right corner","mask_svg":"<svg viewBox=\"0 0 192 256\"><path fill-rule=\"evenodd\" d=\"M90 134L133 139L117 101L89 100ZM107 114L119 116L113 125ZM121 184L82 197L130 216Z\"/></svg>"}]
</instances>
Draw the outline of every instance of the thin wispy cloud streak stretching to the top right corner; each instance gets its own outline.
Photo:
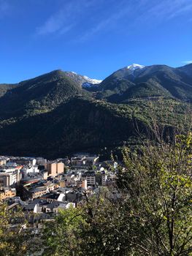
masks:
<instances>
[{"instance_id":1,"label":"thin wispy cloud streak stretching to the top right corner","mask_svg":"<svg viewBox=\"0 0 192 256\"><path fill-rule=\"evenodd\" d=\"M121 23L127 21L129 27L133 28L150 22L162 22L174 18L178 15L185 15L186 12L192 10L191 0L134 0L134 1L118 1L117 9L109 17L99 21L96 26L82 34L80 41L85 41L93 34L99 33L104 29L112 29L115 23L120 20ZM133 15L134 14L134 15Z\"/></svg>"}]
</instances>

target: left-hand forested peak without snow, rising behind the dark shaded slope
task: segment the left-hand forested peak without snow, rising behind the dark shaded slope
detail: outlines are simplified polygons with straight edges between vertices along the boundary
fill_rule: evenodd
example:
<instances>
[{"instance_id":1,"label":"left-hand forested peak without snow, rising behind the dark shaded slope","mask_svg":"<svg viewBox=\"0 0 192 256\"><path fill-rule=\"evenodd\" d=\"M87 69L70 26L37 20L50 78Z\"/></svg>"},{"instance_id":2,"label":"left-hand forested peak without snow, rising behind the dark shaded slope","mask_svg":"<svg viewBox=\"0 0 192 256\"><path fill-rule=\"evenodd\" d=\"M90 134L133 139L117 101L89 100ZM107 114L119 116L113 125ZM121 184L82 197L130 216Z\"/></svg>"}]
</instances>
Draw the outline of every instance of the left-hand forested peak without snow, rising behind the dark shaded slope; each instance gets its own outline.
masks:
<instances>
[{"instance_id":1,"label":"left-hand forested peak without snow, rising behind the dark shaded slope","mask_svg":"<svg viewBox=\"0 0 192 256\"><path fill-rule=\"evenodd\" d=\"M89 93L64 72L55 70L7 91L0 98L0 118L44 113L72 97L89 97Z\"/></svg>"}]
</instances>

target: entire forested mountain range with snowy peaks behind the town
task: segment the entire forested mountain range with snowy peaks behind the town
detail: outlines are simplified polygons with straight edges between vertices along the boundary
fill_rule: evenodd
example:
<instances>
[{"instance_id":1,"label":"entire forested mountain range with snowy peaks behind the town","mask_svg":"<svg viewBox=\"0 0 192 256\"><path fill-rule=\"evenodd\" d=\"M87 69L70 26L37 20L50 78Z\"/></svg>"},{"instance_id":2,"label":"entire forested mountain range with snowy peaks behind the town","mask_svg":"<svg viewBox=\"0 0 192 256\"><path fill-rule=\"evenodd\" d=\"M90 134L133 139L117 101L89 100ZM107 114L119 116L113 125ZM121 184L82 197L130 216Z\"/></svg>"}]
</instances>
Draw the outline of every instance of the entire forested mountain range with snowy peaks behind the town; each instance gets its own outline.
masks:
<instances>
[{"instance_id":1,"label":"entire forested mountain range with snowy peaks behind the town","mask_svg":"<svg viewBox=\"0 0 192 256\"><path fill-rule=\"evenodd\" d=\"M136 127L153 131L152 112L166 127L184 124L191 100L192 64L132 64L104 80L55 70L1 84L0 154L54 158L134 144Z\"/></svg>"}]
</instances>

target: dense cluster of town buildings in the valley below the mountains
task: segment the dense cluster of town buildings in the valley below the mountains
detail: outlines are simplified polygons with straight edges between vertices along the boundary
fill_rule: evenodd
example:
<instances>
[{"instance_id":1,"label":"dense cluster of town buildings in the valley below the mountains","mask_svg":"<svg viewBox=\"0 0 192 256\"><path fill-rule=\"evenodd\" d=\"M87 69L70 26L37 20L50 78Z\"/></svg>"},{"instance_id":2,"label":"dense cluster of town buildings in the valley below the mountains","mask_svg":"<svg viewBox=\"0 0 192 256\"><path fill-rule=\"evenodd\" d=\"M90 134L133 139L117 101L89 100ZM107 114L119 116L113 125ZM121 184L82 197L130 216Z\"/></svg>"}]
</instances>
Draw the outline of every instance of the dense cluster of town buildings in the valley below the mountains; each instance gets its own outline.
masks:
<instances>
[{"instance_id":1,"label":"dense cluster of town buildings in the valley below the mountains","mask_svg":"<svg viewBox=\"0 0 192 256\"><path fill-rule=\"evenodd\" d=\"M100 187L115 183L118 163L99 162L90 154L47 161L42 157L0 157L0 201L18 206L40 219L50 219L59 209L76 207Z\"/></svg>"}]
</instances>

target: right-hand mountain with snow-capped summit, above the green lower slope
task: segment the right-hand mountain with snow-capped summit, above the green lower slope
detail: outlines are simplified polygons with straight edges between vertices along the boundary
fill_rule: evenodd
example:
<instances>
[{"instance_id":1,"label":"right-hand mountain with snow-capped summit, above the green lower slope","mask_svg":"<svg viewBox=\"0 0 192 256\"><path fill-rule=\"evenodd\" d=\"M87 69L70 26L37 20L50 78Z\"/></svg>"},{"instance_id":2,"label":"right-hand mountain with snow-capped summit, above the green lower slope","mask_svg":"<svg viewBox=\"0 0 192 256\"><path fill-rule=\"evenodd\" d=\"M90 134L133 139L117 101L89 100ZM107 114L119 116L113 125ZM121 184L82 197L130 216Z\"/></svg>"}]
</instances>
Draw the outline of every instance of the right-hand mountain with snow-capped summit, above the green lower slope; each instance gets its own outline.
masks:
<instances>
[{"instance_id":1,"label":"right-hand mountain with snow-capped summit, above the green lower slope","mask_svg":"<svg viewBox=\"0 0 192 256\"><path fill-rule=\"evenodd\" d=\"M96 91L97 98L118 103L146 97L172 97L191 101L192 64L179 68L133 64L104 79Z\"/></svg>"}]
</instances>

